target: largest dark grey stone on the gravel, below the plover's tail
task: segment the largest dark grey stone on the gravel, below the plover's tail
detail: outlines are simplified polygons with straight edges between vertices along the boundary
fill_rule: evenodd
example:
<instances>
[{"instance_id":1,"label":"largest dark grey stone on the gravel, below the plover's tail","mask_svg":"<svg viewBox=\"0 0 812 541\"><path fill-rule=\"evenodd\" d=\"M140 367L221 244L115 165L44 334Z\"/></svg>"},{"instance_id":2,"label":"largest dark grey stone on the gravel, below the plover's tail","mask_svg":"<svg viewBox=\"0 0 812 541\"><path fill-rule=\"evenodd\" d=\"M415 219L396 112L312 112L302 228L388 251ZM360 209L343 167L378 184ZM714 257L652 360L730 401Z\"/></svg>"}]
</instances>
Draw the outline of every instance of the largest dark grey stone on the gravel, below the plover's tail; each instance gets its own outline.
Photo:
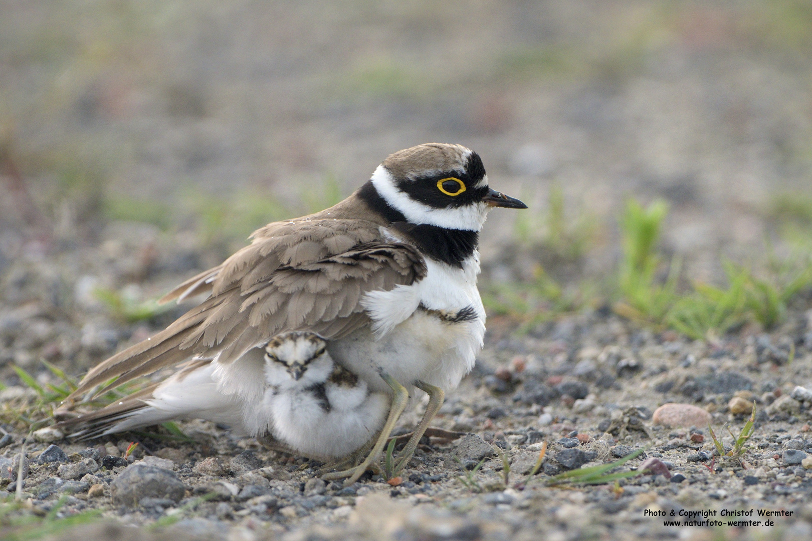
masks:
<instances>
[{"instance_id":1,"label":"largest dark grey stone on the gravel, below the plover's tail","mask_svg":"<svg viewBox=\"0 0 812 541\"><path fill-rule=\"evenodd\" d=\"M113 502L127 507L138 505L143 498L168 498L178 502L185 492L186 487L175 472L155 466L129 466L110 483Z\"/></svg>"}]
</instances>

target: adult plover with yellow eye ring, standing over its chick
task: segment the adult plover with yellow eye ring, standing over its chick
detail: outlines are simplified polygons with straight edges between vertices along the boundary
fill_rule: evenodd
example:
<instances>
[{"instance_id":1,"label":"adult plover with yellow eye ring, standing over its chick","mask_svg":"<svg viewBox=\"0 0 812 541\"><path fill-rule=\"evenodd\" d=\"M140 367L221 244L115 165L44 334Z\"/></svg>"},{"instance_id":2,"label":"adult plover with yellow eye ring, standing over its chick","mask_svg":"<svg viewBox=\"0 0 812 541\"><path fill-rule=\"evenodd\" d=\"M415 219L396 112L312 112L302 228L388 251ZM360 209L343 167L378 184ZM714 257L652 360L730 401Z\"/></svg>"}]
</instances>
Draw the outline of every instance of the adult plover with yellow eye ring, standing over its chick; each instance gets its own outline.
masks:
<instances>
[{"instance_id":1,"label":"adult plover with yellow eye ring, standing over its chick","mask_svg":"<svg viewBox=\"0 0 812 541\"><path fill-rule=\"evenodd\" d=\"M332 359L391 393L355 481L378 457L413 389L429 404L395 471L473 367L485 333L477 290L479 232L490 208L527 208L488 186L482 160L458 144L395 152L346 200L266 225L253 241L163 298L208 297L153 337L88 372L60 413L118 376L118 385L187 359L211 361L224 395L259 403L263 348L288 331L317 333Z\"/></svg>"}]
</instances>

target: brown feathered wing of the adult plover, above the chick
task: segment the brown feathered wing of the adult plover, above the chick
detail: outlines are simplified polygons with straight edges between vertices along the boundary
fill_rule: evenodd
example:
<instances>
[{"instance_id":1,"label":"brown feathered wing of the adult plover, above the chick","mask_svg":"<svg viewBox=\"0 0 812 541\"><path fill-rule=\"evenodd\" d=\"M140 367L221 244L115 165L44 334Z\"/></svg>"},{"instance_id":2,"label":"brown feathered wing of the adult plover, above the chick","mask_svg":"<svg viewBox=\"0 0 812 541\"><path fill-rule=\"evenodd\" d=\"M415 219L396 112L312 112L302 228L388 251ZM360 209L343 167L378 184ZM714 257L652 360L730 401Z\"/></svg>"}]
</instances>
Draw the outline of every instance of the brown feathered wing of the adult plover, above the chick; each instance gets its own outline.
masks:
<instances>
[{"instance_id":1,"label":"brown feathered wing of the adult plover, above the chick","mask_svg":"<svg viewBox=\"0 0 812 541\"><path fill-rule=\"evenodd\" d=\"M251 245L164 297L210 290L209 298L94 367L63 407L106 380L118 377L115 384L123 384L192 356L221 354L218 361L230 363L283 331L346 336L369 324L359 303L363 294L412 284L425 273L415 247L387 242L372 221L304 217L266 225Z\"/></svg>"}]
</instances>

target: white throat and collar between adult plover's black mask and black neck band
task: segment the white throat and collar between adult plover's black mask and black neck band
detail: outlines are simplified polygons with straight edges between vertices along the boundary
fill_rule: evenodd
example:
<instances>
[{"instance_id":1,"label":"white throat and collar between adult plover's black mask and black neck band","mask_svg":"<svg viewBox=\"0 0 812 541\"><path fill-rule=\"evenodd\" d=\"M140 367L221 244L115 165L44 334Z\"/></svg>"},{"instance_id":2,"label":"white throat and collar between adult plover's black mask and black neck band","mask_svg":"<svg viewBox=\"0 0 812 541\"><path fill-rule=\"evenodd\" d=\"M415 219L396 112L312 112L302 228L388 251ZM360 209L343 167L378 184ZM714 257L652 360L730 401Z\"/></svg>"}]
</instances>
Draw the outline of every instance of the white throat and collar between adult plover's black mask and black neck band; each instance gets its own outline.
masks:
<instances>
[{"instance_id":1,"label":"white throat and collar between adult plover's black mask and black neck band","mask_svg":"<svg viewBox=\"0 0 812 541\"><path fill-rule=\"evenodd\" d=\"M371 180L378 195L398 209L412 224L437 225L449 230L480 231L490 210L484 203L458 208L432 208L419 203L395 186L395 178L392 178L383 165L378 165Z\"/></svg>"}]
</instances>

